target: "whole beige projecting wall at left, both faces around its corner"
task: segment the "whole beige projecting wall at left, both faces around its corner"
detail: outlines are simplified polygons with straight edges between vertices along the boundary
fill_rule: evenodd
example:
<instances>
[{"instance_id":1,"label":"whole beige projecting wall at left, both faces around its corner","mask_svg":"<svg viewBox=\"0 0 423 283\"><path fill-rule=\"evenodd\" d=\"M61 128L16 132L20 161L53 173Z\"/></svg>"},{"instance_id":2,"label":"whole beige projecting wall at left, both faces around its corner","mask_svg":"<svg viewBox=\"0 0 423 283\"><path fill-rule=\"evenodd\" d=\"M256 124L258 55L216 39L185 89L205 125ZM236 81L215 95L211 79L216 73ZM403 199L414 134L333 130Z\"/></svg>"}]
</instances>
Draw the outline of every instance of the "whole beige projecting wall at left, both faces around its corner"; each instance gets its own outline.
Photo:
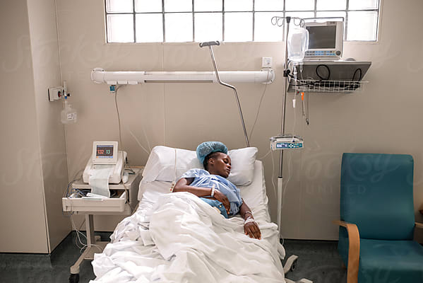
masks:
<instances>
[{"instance_id":1,"label":"whole beige projecting wall at left, both faces around its corner","mask_svg":"<svg viewBox=\"0 0 423 283\"><path fill-rule=\"evenodd\" d=\"M1 2L1 252L51 253L71 231L54 0Z\"/></svg>"}]
</instances>

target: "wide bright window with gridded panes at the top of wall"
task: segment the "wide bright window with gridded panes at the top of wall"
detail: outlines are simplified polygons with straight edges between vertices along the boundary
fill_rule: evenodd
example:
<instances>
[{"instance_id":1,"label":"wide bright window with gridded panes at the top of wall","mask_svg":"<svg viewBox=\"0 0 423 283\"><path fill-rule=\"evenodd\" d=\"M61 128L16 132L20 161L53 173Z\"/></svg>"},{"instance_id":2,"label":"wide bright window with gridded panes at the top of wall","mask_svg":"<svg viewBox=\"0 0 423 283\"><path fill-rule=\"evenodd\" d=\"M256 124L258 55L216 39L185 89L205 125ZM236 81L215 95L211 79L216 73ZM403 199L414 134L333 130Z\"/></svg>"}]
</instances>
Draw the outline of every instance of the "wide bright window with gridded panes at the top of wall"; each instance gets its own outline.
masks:
<instances>
[{"instance_id":1,"label":"wide bright window with gridded panes at the top of wall","mask_svg":"<svg viewBox=\"0 0 423 283\"><path fill-rule=\"evenodd\" d=\"M376 41L381 0L105 0L107 42L277 42L273 16L342 17L345 40Z\"/></svg>"}]
</instances>

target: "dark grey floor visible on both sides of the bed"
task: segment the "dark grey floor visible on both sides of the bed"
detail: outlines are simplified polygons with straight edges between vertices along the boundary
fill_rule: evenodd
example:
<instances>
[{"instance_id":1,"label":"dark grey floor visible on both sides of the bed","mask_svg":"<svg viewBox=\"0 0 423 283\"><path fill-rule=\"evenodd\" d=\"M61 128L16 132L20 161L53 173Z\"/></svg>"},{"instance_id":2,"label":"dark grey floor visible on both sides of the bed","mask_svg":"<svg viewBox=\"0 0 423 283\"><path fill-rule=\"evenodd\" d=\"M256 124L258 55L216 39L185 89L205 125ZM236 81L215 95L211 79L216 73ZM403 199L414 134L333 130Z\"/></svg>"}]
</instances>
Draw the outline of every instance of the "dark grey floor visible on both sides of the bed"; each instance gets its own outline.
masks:
<instances>
[{"instance_id":1,"label":"dark grey floor visible on both sides of the bed","mask_svg":"<svg viewBox=\"0 0 423 283\"><path fill-rule=\"evenodd\" d=\"M100 233L105 241L110 233ZM346 272L333 241L294 241L284 243L287 258L299 255L297 268L287 278L311 279L314 283L346 282ZM75 246L75 234L71 233L54 250L52 255L0 254L0 282L68 282L69 267L78 259L79 249ZM94 279L91 262L81 264L81 283Z\"/></svg>"}]
</instances>

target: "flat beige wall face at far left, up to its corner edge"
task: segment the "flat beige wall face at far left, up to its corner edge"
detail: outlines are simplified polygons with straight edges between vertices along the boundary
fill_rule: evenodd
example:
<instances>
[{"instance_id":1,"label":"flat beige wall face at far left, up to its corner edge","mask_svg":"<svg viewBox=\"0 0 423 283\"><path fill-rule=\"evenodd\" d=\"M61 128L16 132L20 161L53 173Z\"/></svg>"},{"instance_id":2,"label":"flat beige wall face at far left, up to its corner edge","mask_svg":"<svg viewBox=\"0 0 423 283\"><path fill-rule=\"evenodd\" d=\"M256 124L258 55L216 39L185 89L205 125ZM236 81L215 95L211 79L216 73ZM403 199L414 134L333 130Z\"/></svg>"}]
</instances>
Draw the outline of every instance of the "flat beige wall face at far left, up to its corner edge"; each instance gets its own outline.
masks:
<instances>
[{"instance_id":1,"label":"flat beige wall face at far left, up to its corner edge","mask_svg":"<svg viewBox=\"0 0 423 283\"><path fill-rule=\"evenodd\" d=\"M28 8L0 3L0 250L47 253Z\"/></svg>"}]
</instances>

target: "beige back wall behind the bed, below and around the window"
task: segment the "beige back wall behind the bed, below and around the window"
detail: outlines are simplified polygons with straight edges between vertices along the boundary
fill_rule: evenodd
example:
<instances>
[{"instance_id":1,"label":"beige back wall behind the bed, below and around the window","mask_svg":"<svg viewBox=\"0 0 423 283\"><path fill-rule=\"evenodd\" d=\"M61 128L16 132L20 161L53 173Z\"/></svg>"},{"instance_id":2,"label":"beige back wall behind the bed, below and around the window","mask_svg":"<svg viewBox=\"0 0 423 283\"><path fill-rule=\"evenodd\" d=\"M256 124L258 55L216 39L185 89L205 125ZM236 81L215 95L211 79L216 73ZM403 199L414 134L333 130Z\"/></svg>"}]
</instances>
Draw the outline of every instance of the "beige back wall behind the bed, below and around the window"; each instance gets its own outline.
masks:
<instances>
[{"instance_id":1,"label":"beige back wall behind the bed, below and around the window","mask_svg":"<svg viewBox=\"0 0 423 283\"><path fill-rule=\"evenodd\" d=\"M69 178L86 163L94 140L118 140L114 96L105 84L90 81L90 70L205 71L211 70L208 50L196 43L105 44L104 1L57 0L60 62L63 79L73 93L78 123L66 127ZM287 132L304 137L306 148L285 154L284 176L289 179L282 209L286 238L336 239L330 224L339 217L339 179L342 152L412 154L415 158L415 209L423 200L420 117L423 97L417 83L423 74L423 26L419 0L383 1L379 42L346 42L345 58L373 62L369 83L355 95L310 96L310 125L300 108L294 118L288 97ZM268 152L271 137L280 132L282 98L282 42L226 43L215 48L220 70L257 70L261 57L273 57L276 80L266 89L251 144L258 156ZM237 84L246 127L250 131L263 85ZM195 149L201 141L225 142L230 149L244 146L242 127L232 91L212 84L151 83L119 90L124 147L133 165L145 164L141 149L158 144ZM144 134L145 133L145 134ZM404 143L405 140L405 143ZM278 153L264 159L270 211L275 220ZM291 175L291 178L288 176ZM97 222L109 229L113 221Z\"/></svg>"}]
</instances>

